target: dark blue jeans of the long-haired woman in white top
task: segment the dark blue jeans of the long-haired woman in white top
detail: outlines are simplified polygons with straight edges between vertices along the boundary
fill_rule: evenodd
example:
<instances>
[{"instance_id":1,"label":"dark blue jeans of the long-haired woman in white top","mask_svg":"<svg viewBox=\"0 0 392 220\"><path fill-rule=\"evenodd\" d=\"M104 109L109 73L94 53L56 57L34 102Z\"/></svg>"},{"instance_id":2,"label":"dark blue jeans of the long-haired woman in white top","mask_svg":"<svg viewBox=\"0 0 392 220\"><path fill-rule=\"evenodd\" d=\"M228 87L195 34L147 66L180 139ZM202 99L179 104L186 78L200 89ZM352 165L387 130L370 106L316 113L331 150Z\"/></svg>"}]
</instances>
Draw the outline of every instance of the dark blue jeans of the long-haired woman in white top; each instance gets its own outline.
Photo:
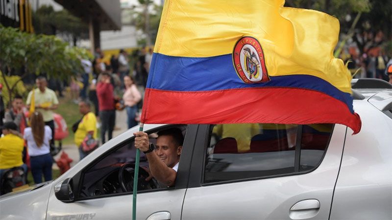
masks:
<instances>
[{"instance_id":1,"label":"dark blue jeans of the long-haired woman in white top","mask_svg":"<svg viewBox=\"0 0 392 220\"><path fill-rule=\"evenodd\" d=\"M42 175L44 175L45 181L52 179L53 159L50 154L30 156L30 165L31 174L36 184L42 182Z\"/></svg>"}]
</instances>

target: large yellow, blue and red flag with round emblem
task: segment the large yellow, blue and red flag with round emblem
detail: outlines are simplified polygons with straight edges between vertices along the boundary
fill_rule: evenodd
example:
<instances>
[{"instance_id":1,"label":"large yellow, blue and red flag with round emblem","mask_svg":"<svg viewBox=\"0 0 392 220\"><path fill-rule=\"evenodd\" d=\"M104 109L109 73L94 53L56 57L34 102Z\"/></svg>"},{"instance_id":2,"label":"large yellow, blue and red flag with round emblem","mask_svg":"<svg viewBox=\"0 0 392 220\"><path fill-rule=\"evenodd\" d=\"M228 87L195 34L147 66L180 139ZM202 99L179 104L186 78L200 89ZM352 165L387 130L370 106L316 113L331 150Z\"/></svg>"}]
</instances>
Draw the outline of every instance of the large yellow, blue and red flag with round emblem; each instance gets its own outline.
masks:
<instances>
[{"instance_id":1,"label":"large yellow, blue and red flag with round emblem","mask_svg":"<svg viewBox=\"0 0 392 220\"><path fill-rule=\"evenodd\" d=\"M284 0L166 0L141 121L338 123L354 133L339 21Z\"/></svg>"}]
</instances>

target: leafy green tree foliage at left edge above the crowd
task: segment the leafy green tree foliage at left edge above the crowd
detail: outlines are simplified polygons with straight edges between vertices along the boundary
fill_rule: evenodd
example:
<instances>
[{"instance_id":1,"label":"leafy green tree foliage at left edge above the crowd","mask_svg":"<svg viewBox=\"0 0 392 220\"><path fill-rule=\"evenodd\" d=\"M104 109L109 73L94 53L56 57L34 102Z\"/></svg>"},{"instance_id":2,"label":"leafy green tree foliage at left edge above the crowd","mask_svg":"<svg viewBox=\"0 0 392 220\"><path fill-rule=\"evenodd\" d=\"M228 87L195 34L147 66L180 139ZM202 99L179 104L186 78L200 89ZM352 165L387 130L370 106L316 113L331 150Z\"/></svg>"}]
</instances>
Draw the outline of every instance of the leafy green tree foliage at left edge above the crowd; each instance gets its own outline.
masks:
<instances>
[{"instance_id":1,"label":"leafy green tree foliage at left edge above the crowd","mask_svg":"<svg viewBox=\"0 0 392 220\"><path fill-rule=\"evenodd\" d=\"M81 59L89 59L85 49L70 47L55 36L36 35L17 28L0 26L1 77L8 90L9 100L18 83L28 74L43 74L48 78L66 79L83 72ZM12 83L11 75L20 78Z\"/></svg>"}]
</instances>

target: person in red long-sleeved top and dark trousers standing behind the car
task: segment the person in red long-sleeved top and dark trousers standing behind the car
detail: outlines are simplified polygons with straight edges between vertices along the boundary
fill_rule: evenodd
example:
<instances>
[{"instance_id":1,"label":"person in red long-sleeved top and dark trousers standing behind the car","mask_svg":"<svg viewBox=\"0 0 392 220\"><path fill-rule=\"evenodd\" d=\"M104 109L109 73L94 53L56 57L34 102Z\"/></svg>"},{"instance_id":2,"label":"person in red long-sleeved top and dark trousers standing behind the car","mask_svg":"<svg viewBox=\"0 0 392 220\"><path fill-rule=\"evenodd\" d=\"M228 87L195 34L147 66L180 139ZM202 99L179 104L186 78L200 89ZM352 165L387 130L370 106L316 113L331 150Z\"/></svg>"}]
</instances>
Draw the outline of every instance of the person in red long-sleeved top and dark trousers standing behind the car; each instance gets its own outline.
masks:
<instances>
[{"instance_id":1,"label":"person in red long-sleeved top and dark trousers standing behind the car","mask_svg":"<svg viewBox=\"0 0 392 220\"><path fill-rule=\"evenodd\" d=\"M114 104L114 88L110 83L110 74L101 73L100 81L97 84L97 97L99 107L99 118L101 120L101 140L105 143L105 133L108 133L108 140L112 139L114 125L116 122L116 111Z\"/></svg>"}]
</instances>

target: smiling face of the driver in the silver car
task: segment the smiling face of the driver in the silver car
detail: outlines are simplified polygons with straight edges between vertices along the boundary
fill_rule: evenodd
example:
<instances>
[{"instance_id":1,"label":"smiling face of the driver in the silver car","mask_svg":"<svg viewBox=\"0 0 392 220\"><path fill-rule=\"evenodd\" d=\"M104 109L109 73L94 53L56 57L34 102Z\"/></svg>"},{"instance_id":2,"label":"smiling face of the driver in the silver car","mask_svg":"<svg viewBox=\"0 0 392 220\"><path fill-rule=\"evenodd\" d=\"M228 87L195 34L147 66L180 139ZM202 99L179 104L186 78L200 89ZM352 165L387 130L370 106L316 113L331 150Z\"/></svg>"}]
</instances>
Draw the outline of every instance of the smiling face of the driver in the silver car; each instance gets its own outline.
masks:
<instances>
[{"instance_id":1,"label":"smiling face of the driver in the silver car","mask_svg":"<svg viewBox=\"0 0 392 220\"><path fill-rule=\"evenodd\" d=\"M170 168L179 161L182 146L177 147L170 135L159 136L156 140L155 153Z\"/></svg>"}]
</instances>

